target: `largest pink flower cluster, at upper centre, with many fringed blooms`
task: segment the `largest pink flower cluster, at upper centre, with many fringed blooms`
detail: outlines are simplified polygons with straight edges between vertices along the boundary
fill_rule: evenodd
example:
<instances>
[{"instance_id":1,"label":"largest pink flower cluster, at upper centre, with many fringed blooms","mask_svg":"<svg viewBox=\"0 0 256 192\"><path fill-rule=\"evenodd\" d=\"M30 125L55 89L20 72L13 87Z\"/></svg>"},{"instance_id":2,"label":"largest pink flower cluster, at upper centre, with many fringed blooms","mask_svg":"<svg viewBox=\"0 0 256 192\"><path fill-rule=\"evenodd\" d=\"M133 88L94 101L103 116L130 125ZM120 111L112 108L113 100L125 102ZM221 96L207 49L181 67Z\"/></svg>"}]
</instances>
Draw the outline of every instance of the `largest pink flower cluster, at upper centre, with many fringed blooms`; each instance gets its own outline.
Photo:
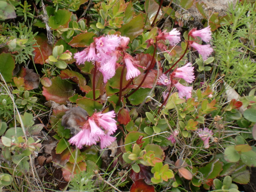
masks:
<instances>
[{"instance_id":1,"label":"largest pink flower cluster, at upper centre, with many fringed blooms","mask_svg":"<svg viewBox=\"0 0 256 192\"><path fill-rule=\"evenodd\" d=\"M121 51L125 51L129 43L128 37L118 37L117 35L106 35L94 38L94 42L84 51L75 53L74 58L77 64L83 64L88 61L95 61L100 72L103 74L103 81L106 83L115 75L116 63L121 55ZM137 61L125 53L124 61L127 67L126 80L137 77L141 72L134 66Z\"/></svg>"}]
</instances>

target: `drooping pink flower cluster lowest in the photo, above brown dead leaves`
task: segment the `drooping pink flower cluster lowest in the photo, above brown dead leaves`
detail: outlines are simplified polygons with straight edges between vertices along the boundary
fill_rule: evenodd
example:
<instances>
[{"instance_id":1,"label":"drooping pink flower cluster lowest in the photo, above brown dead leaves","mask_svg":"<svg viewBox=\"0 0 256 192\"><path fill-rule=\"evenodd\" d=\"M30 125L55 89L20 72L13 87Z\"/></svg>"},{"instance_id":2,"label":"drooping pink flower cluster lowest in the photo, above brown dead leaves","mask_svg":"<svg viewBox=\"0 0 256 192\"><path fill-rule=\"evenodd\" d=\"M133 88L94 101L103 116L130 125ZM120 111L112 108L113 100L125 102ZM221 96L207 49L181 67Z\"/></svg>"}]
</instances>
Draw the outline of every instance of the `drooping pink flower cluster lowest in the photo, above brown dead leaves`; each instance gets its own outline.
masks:
<instances>
[{"instance_id":1,"label":"drooping pink flower cluster lowest in the photo, above brown dead leaves","mask_svg":"<svg viewBox=\"0 0 256 192\"><path fill-rule=\"evenodd\" d=\"M113 119L114 117L114 111L104 114L101 112L93 114L82 126L82 130L68 140L68 142L80 149L83 145L96 145L98 141L100 141L101 149L109 146L116 139L110 136L117 130L117 121Z\"/></svg>"}]
</instances>

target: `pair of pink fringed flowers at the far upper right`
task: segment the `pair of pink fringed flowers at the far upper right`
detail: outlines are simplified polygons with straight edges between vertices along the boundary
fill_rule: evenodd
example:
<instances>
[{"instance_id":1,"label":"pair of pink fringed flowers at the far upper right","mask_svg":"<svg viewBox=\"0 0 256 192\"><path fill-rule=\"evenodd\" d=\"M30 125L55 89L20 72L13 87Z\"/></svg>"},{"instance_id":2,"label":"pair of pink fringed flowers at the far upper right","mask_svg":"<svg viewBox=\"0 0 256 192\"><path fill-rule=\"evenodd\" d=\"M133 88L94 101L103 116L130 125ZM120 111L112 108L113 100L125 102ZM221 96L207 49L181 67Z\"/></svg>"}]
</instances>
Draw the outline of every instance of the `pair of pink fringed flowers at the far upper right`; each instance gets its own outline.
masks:
<instances>
[{"instance_id":1,"label":"pair of pink fringed flowers at the far upper right","mask_svg":"<svg viewBox=\"0 0 256 192\"><path fill-rule=\"evenodd\" d=\"M200 37L206 43L209 43L210 39L212 38L212 32L211 32L210 26L201 30L192 29L189 32L189 35L195 39L197 39L196 37ZM189 41L189 45L190 47L195 48L196 51L198 51L198 53L202 55L202 58L204 61L213 52L213 48L211 48L210 45L200 45L194 41Z\"/></svg>"}]
</instances>

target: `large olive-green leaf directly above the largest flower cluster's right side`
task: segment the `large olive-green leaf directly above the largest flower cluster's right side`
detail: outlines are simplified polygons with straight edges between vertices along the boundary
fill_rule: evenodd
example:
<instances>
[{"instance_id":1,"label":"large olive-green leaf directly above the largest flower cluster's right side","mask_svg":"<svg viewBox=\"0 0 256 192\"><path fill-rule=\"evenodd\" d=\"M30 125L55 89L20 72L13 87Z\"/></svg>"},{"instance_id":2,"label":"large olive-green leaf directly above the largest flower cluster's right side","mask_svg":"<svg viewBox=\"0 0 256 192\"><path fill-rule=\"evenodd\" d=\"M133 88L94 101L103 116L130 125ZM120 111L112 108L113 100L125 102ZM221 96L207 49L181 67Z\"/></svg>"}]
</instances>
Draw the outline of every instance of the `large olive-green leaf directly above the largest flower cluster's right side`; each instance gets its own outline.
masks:
<instances>
[{"instance_id":1,"label":"large olive-green leaf directly above the largest flower cluster's right side","mask_svg":"<svg viewBox=\"0 0 256 192\"><path fill-rule=\"evenodd\" d=\"M134 17L129 23L118 29L122 36L129 37L130 41L142 34L144 28L144 18L142 14Z\"/></svg>"}]
</instances>

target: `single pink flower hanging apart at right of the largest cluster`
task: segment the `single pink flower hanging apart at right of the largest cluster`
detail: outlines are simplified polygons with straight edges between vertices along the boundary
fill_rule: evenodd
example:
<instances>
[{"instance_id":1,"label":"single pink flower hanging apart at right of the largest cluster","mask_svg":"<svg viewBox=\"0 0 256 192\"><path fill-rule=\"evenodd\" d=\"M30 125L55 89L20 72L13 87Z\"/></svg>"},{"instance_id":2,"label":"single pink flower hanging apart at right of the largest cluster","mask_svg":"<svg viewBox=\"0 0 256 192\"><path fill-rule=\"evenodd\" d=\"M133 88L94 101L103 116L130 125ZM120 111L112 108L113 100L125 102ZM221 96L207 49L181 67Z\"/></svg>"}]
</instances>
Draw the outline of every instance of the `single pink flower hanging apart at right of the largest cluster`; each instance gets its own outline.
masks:
<instances>
[{"instance_id":1,"label":"single pink flower hanging apart at right of the largest cluster","mask_svg":"<svg viewBox=\"0 0 256 192\"><path fill-rule=\"evenodd\" d=\"M132 56L130 56L129 54L126 53L124 56L124 62L125 62L126 68L127 68L126 80L137 77L139 74L141 74L139 69L134 67L134 64L139 63L139 62L135 61Z\"/></svg>"}]
</instances>

